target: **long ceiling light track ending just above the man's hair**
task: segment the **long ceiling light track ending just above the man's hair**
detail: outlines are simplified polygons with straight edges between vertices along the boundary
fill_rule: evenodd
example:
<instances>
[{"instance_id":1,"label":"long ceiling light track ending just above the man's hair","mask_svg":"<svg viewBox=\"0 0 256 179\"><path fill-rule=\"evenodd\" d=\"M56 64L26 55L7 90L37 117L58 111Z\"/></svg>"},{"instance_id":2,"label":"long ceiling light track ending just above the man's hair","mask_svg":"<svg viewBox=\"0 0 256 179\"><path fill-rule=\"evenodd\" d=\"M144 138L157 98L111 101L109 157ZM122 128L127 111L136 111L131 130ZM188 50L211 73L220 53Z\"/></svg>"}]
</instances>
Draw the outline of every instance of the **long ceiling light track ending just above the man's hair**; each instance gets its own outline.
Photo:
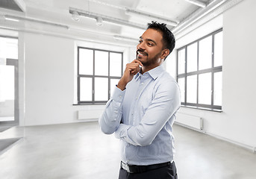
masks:
<instances>
[{"instance_id":1,"label":"long ceiling light track ending just above the man's hair","mask_svg":"<svg viewBox=\"0 0 256 179\"><path fill-rule=\"evenodd\" d=\"M87 10L78 10L72 7L69 7L69 13L74 13L77 12L79 16L84 16L84 17L89 17L89 18L93 18L93 19L97 19L99 17L102 18L102 21L104 22L109 22L109 23L113 23L113 24L117 24L117 25L125 25L128 27L132 27L132 28L140 28L145 30L146 29L146 25L140 25L134 22L129 22L127 20L124 19L118 19L112 16L105 16L103 14L99 14L99 13L93 13Z\"/></svg>"}]
</instances>

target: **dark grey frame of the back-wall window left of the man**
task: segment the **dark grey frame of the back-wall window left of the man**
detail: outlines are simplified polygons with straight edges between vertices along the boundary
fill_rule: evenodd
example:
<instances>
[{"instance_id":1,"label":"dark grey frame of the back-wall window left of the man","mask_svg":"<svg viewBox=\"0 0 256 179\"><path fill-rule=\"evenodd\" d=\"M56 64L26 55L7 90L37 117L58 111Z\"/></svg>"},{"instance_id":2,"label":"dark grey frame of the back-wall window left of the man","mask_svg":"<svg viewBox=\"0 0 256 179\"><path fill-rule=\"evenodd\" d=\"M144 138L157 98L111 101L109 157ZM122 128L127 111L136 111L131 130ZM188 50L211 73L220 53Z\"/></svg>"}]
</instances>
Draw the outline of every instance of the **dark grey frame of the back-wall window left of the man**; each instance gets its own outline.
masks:
<instances>
[{"instance_id":1,"label":"dark grey frame of the back-wall window left of the man","mask_svg":"<svg viewBox=\"0 0 256 179\"><path fill-rule=\"evenodd\" d=\"M93 75L82 75L79 73L79 66L80 66L80 62L79 62L79 53L80 53L80 49L87 49L87 50L92 50L93 51ZM107 71L108 74L107 75L95 75L95 70L96 70L96 63L95 63L95 51L105 51L108 53L108 66L107 66ZM116 53L116 54L121 54L122 55L122 62L121 62L121 75L120 76L110 76L110 53ZM77 57L77 85L78 85L78 95L77 95L77 100L78 100L78 104L105 104L107 103L107 101L96 101L95 100L95 78L107 78L107 83L108 83L108 87L107 87L107 94L108 94L108 99L110 98L110 81L111 79L120 79L122 77L122 73L123 73L123 52L122 51L108 51L108 50L103 50L103 49L98 49L98 48L87 48L87 47L83 47L83 46L78 46L78 57ZM81 101L81 90L80 90L80 79L81 78L92 78L92 101ZM107 99L107 100L108 100Z\"/></svg>"}]
</instances>

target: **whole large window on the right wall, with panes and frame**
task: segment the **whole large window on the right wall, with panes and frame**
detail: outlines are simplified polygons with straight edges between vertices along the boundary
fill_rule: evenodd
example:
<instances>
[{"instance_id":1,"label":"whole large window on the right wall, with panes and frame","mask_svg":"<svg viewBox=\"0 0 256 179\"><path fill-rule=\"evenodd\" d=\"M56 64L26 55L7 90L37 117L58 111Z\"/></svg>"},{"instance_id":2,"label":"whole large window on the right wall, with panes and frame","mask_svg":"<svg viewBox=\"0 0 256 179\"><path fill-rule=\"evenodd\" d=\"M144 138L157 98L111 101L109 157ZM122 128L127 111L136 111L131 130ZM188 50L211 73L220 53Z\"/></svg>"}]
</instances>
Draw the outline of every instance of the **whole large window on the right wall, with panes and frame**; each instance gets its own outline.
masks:
<instances>
[{"instance_id":1,"label":"whole large window on the right wall, with panes and frame","mask_svg":"<svg viewBox=\"0 0 256 179\"><path fill-rule=\"evenodd\" d=\"M177 51L181 104L222 109L222 29Z\"/></svg>"}]
</instances>

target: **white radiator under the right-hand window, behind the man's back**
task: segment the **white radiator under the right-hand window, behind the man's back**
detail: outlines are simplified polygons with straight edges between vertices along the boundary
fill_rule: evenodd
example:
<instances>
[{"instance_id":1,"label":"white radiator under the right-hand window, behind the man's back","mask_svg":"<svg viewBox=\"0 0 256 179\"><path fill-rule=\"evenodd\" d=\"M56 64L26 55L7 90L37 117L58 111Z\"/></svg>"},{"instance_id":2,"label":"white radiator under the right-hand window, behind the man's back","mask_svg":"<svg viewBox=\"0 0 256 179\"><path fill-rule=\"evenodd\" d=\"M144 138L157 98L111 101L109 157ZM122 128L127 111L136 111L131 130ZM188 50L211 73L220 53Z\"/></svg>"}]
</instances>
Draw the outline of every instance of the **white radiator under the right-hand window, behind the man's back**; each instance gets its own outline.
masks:
<instances>
[{"instance_id":1,"label":"white radiator under the right-hand window, behind the man's back","mask_svg":"<svg viewBox=\"0 0 256 179\"><path fill-rule=\"evenodd\" d=\"M192 116L185 113L176 113L175 123L196 130L203 130L203 119L199 116Z\"/></svg>"}]
</instances>

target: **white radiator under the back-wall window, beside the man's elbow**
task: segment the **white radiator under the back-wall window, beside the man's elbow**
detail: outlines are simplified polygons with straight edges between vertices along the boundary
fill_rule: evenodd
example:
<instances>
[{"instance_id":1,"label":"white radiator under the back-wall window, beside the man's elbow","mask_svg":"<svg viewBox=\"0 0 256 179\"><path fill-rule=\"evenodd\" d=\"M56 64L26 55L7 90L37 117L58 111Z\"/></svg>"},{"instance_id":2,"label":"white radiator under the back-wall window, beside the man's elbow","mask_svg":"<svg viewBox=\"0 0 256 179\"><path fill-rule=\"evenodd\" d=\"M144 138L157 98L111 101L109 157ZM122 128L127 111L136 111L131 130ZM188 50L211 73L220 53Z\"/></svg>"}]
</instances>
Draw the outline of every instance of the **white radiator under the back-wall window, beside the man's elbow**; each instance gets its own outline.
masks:
<instances>
[{"instance_id":1,"label":"white radiator under the back-wall window, beside the man's elbow","mask_svg":"<svg viewBox=\"0 0 256 179\"><path fill-rule=\"evenodd\" d=\"M96 121L103 110L78 110L78 120Z\"/></svg>"}]
</instances>

